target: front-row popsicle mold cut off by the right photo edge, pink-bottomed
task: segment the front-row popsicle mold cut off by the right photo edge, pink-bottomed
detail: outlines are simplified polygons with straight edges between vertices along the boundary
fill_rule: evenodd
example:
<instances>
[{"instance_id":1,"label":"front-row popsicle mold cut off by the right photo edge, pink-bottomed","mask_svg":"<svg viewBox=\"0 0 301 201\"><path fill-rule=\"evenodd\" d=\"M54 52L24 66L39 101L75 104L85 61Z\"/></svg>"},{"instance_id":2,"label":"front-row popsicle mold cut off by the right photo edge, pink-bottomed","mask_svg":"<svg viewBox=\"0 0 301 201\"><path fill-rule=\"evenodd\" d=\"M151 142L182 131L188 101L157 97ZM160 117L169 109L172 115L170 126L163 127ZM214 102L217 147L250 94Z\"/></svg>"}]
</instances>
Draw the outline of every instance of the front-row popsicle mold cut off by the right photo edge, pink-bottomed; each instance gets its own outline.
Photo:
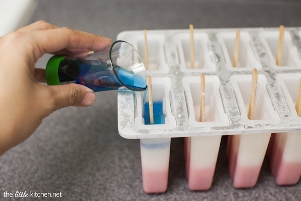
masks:
<instances>
[{"instance_id":1,"label":"front-row popsicle mold cut off by the right photo edge, pink-bottomed","mask_svg":"<svg viewBox=\"0 0 301 201\"><path fill-rule=\"evenodd\" d=\"M291 115L296 121L301 121L295 107L300 78L301 73L277 75ZM270 168L276 183L296 184L301 176L301 132L276 133L270 147Z\"/></svg>"}]
</instances>

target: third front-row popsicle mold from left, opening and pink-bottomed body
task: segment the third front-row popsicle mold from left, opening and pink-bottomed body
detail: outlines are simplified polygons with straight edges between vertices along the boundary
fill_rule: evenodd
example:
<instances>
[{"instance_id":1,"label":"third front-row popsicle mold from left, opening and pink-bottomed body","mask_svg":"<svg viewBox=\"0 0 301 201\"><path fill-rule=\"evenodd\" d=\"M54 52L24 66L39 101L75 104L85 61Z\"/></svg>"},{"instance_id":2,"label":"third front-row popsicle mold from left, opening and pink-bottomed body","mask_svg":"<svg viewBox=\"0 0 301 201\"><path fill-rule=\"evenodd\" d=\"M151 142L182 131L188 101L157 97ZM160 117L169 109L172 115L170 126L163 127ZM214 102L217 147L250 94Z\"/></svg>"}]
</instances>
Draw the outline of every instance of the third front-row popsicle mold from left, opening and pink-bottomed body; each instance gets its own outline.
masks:
<instances>
[{"instance_id":1,"label":"third front-row popsicle mold from left, opening and pink-bottomed body","mask_svg":"<svg viewBox=\"0 0 301 201\"><path fill-rule=\"evenodd\" d=\"M233 75L230 82L234 87L242 120L246 124L278 122L279 117L273 108L267 92L267 82L258 75L254 117L248 119L252 75ZM250 188L256 185L262 162L270 139L270 132L258 134L233 135L228 140L229 171L236 188Z\"/></svg>"}]
</instances>

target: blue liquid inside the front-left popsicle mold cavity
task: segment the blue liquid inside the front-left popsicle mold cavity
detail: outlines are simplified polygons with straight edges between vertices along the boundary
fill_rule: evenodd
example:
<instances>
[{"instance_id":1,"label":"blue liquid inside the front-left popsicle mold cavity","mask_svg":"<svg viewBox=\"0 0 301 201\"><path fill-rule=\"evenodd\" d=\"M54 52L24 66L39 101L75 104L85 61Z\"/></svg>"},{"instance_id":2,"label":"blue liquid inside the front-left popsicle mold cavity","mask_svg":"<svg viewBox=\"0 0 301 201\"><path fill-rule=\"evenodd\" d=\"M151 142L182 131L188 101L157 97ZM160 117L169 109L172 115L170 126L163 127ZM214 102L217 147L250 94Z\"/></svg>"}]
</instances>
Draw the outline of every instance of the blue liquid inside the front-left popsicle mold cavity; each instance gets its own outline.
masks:
<instances>
[{"instance_id":1,"label":"blue liquid inside the front-left popsicle mold cavity","mask_svg":"<svg viewBox=\"0 0 301 201\"><path fill-rule=\"evenodd\" d=\"M153 102L153 113L154 113L154 124L164 124L165 123L165 114L163 113L163 104L162 101ZM149 117L149 103L144 103L143 111L144 124L150 124Z\"/></svg>"}]
</instances>

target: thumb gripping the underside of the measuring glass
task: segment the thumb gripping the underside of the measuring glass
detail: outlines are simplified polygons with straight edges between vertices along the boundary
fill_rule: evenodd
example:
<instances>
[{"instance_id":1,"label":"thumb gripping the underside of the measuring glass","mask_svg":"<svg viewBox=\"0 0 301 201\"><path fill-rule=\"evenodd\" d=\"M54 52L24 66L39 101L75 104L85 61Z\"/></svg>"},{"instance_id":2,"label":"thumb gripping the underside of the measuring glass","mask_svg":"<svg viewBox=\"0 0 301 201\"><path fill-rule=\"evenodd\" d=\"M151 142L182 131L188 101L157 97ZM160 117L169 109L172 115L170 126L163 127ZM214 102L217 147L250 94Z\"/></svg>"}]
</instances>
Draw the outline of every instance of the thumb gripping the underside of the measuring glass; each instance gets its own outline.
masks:
<instances>
[{"instance_id":1,"label":"thumb gripping the underside of the measuring glass","mask_svg":"<svg viewBox=\"0 0 301 201\"><path fill-rule=\"evenodd\" d=\"M96 100L94 91L80 84L49 86L54 101L54 109L67 106L91 106Z\"/></svg>"}]
</instances>

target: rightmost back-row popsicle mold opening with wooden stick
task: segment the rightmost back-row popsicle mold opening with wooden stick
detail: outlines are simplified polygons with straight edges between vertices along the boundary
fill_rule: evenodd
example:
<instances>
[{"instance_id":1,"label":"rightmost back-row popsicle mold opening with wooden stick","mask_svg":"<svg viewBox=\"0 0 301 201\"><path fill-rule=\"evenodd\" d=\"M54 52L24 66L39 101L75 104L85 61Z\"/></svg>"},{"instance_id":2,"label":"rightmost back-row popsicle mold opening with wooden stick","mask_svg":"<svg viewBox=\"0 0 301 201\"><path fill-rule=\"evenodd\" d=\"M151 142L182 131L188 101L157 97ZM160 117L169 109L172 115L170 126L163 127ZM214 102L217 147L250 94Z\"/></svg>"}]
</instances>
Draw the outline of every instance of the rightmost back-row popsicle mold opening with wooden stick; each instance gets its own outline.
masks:
<instances>
[{"instance_id":1,"label":"rightmost back-row popsicle mold opening with wooden stick","mask_svg":"<svg viewBox=\"0 0 301 201\"><path fill-rule=\"evenodd\" d=\"M298 57L298 50L292 41L290 32L288 32L288 31L284 32L282 61L279 66L276 65L279 30L262 31L259 33L259 36L264 45L264 48L269 57L272 67L276 68L277 70L301 68L301 60ZM285 68L283 68L283 67L285 67Z\"/></svg>"}]
</instances>

